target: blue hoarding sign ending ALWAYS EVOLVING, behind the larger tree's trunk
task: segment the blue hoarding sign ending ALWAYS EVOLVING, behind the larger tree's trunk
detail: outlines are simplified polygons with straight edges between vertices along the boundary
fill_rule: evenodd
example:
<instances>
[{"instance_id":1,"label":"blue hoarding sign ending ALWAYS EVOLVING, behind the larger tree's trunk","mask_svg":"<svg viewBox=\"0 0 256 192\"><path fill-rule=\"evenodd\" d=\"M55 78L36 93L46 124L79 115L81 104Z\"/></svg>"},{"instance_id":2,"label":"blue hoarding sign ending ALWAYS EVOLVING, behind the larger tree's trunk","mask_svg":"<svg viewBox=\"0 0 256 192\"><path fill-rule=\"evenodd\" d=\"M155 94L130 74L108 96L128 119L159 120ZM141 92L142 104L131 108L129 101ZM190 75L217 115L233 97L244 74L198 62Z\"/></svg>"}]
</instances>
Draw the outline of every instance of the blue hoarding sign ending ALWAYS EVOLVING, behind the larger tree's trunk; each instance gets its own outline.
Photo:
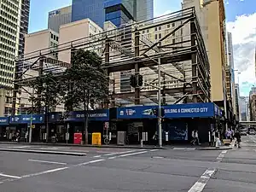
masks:
<instances>
[{"instance_id":1,"label":"blue hoarding sign ending ALWAYS EVOLVING, behind the larger tree's trunk","mask_svg":"<svg viewBox=\"0 0 256 192\"><path fill-rule=\"evenodd\" d=\"M89 120L93 121L108 121L109 110L108 109L96 109L89 111ZM84 111L73 111L70 112L69 117L66 121L84 121Z\"/></svg>"}]
</instances>

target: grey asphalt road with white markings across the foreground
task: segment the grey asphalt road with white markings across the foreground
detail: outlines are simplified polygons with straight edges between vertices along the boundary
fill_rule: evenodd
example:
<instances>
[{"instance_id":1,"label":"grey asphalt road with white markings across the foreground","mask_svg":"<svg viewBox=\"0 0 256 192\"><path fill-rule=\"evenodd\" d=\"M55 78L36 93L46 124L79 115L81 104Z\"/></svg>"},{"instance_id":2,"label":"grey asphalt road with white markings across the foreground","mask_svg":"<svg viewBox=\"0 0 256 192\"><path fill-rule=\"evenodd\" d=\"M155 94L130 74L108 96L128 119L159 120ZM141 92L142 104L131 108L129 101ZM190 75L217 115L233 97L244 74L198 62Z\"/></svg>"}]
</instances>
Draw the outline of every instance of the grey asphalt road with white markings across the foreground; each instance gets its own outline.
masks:
<instances>
[{"instance_id":1,"label":"grey asphalt road with white markings across the foreground","mask_svg":"<svg viewBox=\"0 0 256 192\"><path fill-rule=\"evenodd\" d=\"M87 155L82 157L0 152L0 189L8 192L253 192L256 137L242 137L242 141L241 148L228 151L54 148L83 150ZM0 145L0 148L8 147L12 146Z\"/></svg>"}]
</instances>

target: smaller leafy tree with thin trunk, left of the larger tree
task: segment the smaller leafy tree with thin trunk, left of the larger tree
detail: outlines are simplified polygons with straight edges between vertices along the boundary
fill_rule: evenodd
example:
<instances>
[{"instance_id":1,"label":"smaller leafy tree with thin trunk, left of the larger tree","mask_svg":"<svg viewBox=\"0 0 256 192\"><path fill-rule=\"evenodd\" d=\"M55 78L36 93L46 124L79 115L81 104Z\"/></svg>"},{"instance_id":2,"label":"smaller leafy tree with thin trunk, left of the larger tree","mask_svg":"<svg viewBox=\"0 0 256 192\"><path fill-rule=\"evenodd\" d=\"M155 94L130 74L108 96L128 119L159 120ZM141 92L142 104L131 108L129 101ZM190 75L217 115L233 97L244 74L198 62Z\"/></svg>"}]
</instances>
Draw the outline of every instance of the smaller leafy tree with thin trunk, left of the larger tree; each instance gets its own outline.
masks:
<instances>
[{"instance_id":1,"label":"smaller leafy tree with thin trunk, left of the larger tree","mask_svg":"<svg viewBox=\"0 0 256 192\"><path fill-rule=\"evenodd\" d=\"M32 95L29 98L30 102L34 103L35 111L37 113L42 113L42 106L45 108L46 142L48 142L49 112L55 111L56 106L61 103L61 84L58 83L58 79L52 73L47 73L44 76L39 76L37 79L32 81L30 87L34 89L34 92L37 95Z\"/></svg>"}]
</instances>

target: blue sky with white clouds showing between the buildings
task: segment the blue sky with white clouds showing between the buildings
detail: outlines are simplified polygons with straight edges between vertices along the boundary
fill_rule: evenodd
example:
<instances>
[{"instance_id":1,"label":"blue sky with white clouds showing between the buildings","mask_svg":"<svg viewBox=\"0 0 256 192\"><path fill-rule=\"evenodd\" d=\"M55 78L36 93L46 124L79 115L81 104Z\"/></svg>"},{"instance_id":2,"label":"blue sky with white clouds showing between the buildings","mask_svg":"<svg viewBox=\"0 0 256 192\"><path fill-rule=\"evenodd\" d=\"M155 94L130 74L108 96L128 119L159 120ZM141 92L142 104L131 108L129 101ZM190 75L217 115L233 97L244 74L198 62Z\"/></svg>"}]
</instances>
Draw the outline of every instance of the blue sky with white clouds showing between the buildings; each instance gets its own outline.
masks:
<instances>
[{"instance_id":1,"label":"blue sky with white clouds showing between the buildings","mask_svg":"<svg viewBox=\"0 0 256 192\"><path fill-rule=\"evenodd\" d=\"M44 3L42 3L44 2ZM182 0L154 0L154 16L165 15L181 9ZM47 28L48 12L70 5L72 0L31 0L29 32ZM228 32L233 35L236 83L240 84L241 96L248 96L256 84L256 0L225 0Z\"/></svg>"}]
</instances>

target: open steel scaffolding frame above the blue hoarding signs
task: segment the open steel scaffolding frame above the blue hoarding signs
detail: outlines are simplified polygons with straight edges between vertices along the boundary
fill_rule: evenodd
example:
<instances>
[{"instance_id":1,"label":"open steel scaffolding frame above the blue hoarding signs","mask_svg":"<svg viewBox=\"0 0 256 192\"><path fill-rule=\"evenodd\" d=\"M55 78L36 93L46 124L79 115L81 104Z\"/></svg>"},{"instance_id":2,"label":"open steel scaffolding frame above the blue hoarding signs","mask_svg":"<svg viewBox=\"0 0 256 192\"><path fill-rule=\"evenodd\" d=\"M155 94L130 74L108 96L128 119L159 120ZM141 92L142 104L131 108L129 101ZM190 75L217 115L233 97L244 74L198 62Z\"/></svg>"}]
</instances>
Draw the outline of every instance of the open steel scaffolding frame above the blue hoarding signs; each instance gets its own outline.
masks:
<instances>
[{"instance_id":1,"label":"open steel scaffolding frame above the blue hoarding signs","mask_svg":"<svg viewBox=\"0 0 256 192\"><path fill-rule=\"evenodd\" d=\"M18 108L31 106L28 84L38 76L51 72L61 80L61 74L72 65L74 49L102 55L109 76L109 108L158 103L159 62L161 103L210 102L207 50L195 9L189 8L20 56L16 60L14 113L17 102ZM131 74L142 74L143 86L131 88Z\"/></svg>"}]
</instances>

